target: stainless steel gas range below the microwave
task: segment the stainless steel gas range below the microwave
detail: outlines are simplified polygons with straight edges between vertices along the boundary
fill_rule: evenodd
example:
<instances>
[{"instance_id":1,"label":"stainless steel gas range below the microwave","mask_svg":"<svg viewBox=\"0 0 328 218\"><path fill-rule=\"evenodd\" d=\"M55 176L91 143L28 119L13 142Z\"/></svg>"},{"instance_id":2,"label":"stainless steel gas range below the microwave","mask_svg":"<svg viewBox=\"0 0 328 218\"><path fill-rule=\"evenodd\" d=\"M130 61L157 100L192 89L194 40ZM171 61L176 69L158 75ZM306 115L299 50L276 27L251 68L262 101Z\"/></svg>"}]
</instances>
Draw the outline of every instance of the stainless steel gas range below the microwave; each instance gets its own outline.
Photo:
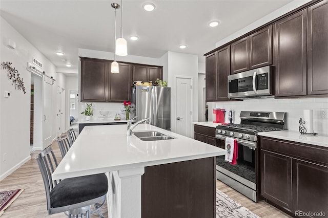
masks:
<instances>
[{"instance_id":1,"label":"stainless steel gas range below the microwave","mask_svg":"<svg viewBox=\"0 0 328 218\"><path fill-rule=\"evenodd\" d=\"M286 129L285 112L240 112L240 124L218 125L216 138L224 146L227 137L238 143L237 164L224 161L224 156L216 158L216 178L235 190L258 201L259 197L259 132Z\"/></svg>"}]
</instances>

